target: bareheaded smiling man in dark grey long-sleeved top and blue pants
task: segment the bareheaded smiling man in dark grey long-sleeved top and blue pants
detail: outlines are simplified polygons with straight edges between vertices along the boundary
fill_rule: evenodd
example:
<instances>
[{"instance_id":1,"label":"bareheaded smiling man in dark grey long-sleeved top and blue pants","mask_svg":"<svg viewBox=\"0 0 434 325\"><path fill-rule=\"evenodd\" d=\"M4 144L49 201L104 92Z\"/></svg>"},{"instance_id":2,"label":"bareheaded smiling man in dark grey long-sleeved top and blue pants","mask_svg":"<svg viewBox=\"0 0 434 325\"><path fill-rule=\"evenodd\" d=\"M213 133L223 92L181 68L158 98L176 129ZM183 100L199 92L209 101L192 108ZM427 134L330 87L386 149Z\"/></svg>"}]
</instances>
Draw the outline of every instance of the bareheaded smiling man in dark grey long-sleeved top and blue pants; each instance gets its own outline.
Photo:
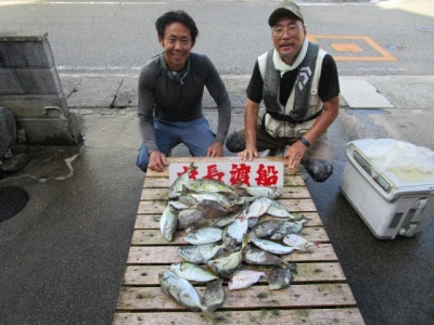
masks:
<instances>
[{"instance_id":1,"label":"bareheaded smiling man in dark grey long-sleeved top and blue pants","mask_svg":"<svg viewBox=\"0 0 434 325\"><path fill-rule=\"evenodd\" d=\"M164 52L139 77L139 127L142 144L137 166L163 171L170 151L183 143L192 156L221 157L231 120L225 84L210 60L192 53L199 34L183 11L169 11L155 23ZM218 108L217 134L202 110L204 87Z\"/></svg>"}]
</instances>

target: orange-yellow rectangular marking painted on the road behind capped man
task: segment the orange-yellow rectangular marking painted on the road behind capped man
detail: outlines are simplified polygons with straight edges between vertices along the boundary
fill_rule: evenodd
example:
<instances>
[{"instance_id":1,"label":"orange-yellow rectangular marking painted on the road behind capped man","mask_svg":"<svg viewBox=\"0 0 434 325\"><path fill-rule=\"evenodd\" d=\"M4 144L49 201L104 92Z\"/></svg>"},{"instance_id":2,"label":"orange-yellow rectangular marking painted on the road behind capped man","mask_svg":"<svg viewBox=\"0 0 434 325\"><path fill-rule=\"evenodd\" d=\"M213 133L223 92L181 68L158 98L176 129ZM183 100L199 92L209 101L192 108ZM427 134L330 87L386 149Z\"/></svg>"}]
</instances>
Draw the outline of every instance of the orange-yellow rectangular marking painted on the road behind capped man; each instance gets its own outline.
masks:
<instances>
[{"instance_id":1,"label":"orange-yellow rectangular marking painted on the road behind capped man","mask_svg":"<svg viewBox=\"0 0 434 325\"><path fill-rule=\"evenodd\" d=\"M344 35L308 35L308 39L321 46L321 39L336 40L331 44L331 48L336 52L347 52L347 53L358 53L363 52L362 47L356 42L348 42L348 40L358 40L366 43L367 47L370 47L374 51L379 53L379 55L374 56L343 56L343 55L333 55L335 61L397 61L395 56L380 47L374 40L368 36L344 36ZM341 40L345 40L341 41Z\"/></svg>"}]
</instances>

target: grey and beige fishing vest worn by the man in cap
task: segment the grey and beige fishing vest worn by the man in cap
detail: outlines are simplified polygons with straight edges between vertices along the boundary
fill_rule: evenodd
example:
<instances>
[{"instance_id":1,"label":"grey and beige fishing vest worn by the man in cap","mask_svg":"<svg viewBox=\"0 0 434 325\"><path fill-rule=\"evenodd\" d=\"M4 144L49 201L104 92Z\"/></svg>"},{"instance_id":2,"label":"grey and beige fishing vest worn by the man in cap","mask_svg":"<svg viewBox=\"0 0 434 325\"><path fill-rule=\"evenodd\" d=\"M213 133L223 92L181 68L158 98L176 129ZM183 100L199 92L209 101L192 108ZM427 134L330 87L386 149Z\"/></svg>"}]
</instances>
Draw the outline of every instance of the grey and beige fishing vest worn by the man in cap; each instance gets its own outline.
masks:
<instances>
[{"instance_id":1,"label":"grey and beige fishing vest worn by the man in cap","mask_svg":"<svg viewBox=\"0 0 434 325\"><path fill-rule=\"evenodd\" d=\"M258 126L273 138L299 138L321 115L322 101L318 95L322 60L327 52L309 42L306 56L298 66L298 75L286 105L281 105L280 72L272 63L275 49L258 57L260 76L264 80L263 99L265 108L259 109Z\"/></svg>"}]
</instances>

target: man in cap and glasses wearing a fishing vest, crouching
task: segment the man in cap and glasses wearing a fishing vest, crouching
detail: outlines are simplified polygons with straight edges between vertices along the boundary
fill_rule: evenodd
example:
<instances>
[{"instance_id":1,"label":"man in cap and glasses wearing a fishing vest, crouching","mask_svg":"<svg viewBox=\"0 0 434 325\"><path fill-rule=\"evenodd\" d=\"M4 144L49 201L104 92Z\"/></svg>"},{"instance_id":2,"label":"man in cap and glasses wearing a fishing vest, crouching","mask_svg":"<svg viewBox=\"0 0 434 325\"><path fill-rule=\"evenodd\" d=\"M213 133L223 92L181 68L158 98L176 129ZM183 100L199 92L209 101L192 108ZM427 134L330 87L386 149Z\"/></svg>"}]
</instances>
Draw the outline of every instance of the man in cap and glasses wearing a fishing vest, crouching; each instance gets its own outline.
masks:
<instances>
[{"instance_id":1,"label":"man in cap and glasses wearing a fishing vest, crouching","mask_svg":"<svg viewBox=\"0 0 434 325\"><path fill-rule=\"evenodd\" d=\"M282 152L288 167L302 164L317 182L333 172L327 129L339 114L339 76L333 57L306 37L302 11L282 2L268 18L273 49L260 55L247 87L244 129L226 146L242 160L258 152ZM259 109L264 100L265 108Z\"/></svg>"}]
</instances>

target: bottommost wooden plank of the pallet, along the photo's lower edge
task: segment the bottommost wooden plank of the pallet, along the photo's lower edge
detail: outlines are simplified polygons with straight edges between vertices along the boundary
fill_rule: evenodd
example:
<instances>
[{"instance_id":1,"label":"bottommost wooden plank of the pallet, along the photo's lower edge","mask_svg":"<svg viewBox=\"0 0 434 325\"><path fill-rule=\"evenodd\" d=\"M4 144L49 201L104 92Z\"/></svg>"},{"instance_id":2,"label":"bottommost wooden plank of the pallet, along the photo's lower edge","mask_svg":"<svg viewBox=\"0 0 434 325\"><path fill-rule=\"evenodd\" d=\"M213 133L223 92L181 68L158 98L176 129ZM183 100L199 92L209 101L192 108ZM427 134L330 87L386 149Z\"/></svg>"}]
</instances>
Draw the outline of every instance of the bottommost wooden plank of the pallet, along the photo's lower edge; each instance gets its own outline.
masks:
<instances>
[{"instance_id":1,"label":"bottommost wooden plank of the pallet, along the photo's lower edge","mask_svg":"<svg viewBox=\"0 0 434 325\"><path fill-rule=\"evenodd\" d=\"M239 325L288 325L288 324L365 324L357 308L216 312L217 320L206 320L199 312L117 312L114 325L139 324L239 324Z\"/></svg>"}]
</instances>

